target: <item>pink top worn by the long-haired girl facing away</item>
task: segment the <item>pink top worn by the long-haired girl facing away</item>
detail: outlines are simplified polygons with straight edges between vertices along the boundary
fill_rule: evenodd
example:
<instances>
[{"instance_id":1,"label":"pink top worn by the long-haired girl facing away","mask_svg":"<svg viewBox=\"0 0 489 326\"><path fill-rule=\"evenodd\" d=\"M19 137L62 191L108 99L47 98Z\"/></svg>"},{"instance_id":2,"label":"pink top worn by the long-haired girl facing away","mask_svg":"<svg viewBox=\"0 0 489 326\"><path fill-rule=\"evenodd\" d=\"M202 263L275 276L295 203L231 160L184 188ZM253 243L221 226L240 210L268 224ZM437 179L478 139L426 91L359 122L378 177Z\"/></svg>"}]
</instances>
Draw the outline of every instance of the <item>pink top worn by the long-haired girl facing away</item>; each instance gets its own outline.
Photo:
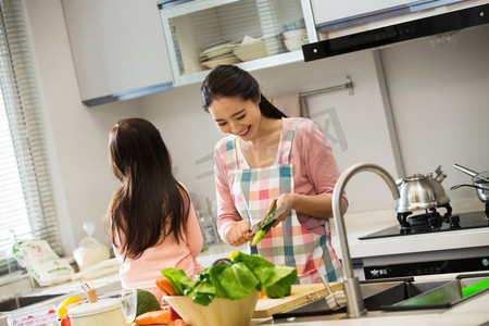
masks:
<instances>
[{"instance_id":1,"label":"pink top worn by the long-haired girl facing away","mask_svg":"<svg viewBox=\"0 0 489 326\"><path fill-rule=\"evenodd\" d=\"M188 277L193 278L197 272L202 269L196 260L202 250L202 233L196 211L190 203L187 229L179 243L175 241L174 237L167 237L160 244L147 249L138 259L126 258L126 260L113 246L115 256L121 263L120 276L123 288L153 288L155 280L163 278L161 271L166 267L181 268Z\"/></svg>"}]
</instances>

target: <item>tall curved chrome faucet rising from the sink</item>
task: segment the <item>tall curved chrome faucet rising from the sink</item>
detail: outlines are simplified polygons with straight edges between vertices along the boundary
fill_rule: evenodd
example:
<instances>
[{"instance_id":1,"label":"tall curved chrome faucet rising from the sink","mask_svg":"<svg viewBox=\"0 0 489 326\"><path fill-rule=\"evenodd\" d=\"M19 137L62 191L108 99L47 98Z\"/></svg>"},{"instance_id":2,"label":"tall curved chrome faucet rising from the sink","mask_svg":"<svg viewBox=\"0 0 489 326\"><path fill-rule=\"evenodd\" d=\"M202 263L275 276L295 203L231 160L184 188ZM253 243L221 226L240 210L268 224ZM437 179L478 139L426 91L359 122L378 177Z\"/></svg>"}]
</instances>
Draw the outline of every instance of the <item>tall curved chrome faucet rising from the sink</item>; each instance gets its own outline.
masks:
<instances>
[{"instance_id":1,"label":"tall curved chrome faucet rising from the sink","mask_svg":"<svg viewBox=\"0 0 489 326\"><path fill-rule=\"evenodd\" d=\"M347 297L347 316L349 318L358 318L366 314L365 305L363 303L362 292L360 290L360 280L353 276L353 267L351 263L350 249L348 247L347 230L344 227L343 210L341 205L341 195L350 178L362 171L371 171L381 177L392 191L394 200L399 199L399 189L392 176L376 164L359 163L349 167L340 175L333 191L333 215L335 218L336 228L340 241L342 264L343 264L343 283L344 294Z\"/></svg>"}]
</instances>

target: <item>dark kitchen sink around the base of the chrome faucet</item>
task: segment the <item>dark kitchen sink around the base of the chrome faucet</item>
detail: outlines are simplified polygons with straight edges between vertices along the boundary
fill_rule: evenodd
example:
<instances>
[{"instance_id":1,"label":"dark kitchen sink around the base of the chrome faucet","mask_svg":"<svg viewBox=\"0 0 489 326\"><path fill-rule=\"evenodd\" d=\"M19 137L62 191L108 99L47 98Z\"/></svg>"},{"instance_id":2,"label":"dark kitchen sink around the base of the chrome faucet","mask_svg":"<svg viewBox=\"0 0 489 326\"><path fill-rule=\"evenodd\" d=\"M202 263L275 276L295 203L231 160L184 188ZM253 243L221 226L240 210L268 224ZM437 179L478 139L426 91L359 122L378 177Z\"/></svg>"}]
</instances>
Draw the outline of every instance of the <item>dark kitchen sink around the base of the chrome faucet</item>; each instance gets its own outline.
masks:
<instances>
[{"instance_id":1,"label":"dark kitchen sink around the base of the chrome faucet","mask_svg":"<svg viewBox=\"0 0 489 326\"><path fill-rule=\"evenodd\" d=\"M488 278L488 276L484 276L453 280L414 281L404 279L363 283L360 285L360 289L365 309L369 312L449 309L469 298L463 298L463 288ZM489 288L482 291L487 290ZM321 315L329 315L328 318L342 318L346 312L346 306L331 310L325 299L319 299L285 313L274 314L274 321L291 321Z\"/></svg>"}]
</instances>

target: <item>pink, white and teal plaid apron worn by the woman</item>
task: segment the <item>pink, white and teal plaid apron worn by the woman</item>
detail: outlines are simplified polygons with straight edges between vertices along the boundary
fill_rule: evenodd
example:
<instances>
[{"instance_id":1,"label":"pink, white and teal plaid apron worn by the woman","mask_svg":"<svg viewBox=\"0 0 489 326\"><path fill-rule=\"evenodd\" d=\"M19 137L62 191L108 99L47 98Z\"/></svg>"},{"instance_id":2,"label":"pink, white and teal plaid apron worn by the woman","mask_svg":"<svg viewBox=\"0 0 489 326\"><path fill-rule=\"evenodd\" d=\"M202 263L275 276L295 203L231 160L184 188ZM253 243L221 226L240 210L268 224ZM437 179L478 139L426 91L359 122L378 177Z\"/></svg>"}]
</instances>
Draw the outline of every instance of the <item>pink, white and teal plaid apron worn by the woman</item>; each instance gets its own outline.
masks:
<instances>
[{"instance_id":1,"label":"pink, white and teal plaid apron worn by the woman","mask_svg":"<svg viewBox=\"0 0 489 326\"><path fill-rule=\"evenodd\" d=\"M242 218L250 224L265 216L274 198L293 192L292 165L289 164L293 134L301 118L294 120L288 129L283 128L277 159L272 166L250 168L237 138L230 136L226 146L229 168L229 189ZM326 222L328 223L328 222ZM328 281L341 277L341 264L330 243L329 235L316 235L303 227L291 210L287 220L278 224L251 253L259 253L274 264L296 267L301 284L321 283L321 275Z\"/></svg>"}]
</instances>

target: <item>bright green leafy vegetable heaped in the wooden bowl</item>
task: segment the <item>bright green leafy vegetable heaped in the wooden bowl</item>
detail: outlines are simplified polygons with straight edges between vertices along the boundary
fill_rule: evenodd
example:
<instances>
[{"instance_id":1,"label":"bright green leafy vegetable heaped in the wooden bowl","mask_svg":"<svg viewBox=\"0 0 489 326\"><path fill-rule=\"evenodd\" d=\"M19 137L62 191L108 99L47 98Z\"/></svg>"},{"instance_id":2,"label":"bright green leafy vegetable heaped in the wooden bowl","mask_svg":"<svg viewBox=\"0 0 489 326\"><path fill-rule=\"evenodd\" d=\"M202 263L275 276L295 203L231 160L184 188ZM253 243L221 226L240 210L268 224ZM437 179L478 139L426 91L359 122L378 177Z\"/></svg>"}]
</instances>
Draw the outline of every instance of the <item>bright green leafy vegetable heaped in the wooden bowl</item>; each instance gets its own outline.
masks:
<instances>
[{"instance_id":1,"label":"bright green leafy vegetable heaped in the wooden bowl","mask_svg":"<svg viewBox=\"0 0 489 326\"><path fill-rule=\"evenodd\" d=\"M263 287L268 298L284 298L290 294L297 280L296 268L242 252L233 258L230 265L217 264L199 272L195 280L183 269L165 268L162 273L179 296L190 297L201 305L208 305L214 298L239 300Z\"/></svg>"}]
</instances>

